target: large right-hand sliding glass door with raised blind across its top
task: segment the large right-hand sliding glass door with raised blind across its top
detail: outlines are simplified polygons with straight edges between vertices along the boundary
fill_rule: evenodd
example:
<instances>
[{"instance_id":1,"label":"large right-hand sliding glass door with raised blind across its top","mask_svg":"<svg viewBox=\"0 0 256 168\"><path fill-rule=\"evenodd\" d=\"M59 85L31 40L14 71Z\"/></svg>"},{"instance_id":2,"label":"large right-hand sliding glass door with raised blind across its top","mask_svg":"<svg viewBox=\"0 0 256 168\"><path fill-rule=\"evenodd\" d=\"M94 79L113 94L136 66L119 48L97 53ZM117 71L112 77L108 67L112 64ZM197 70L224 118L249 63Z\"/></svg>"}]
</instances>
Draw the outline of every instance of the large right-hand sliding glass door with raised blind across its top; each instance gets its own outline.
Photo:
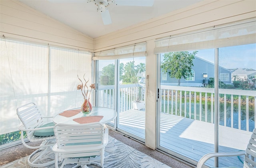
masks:
<instances>
[{"instance_id":1,"label":"large right-hand sliding glass door with raised blind across its top","mask_svg":"<svg viewBox=\"0 0 256 168\"><path fill-rule=\"evenodd\" d=\"M156 41L157 148L196 165L210 152L245 150L256 128L255 22ZM243 157L206 166L242 167Z\"/></svg>"}]
</instances>

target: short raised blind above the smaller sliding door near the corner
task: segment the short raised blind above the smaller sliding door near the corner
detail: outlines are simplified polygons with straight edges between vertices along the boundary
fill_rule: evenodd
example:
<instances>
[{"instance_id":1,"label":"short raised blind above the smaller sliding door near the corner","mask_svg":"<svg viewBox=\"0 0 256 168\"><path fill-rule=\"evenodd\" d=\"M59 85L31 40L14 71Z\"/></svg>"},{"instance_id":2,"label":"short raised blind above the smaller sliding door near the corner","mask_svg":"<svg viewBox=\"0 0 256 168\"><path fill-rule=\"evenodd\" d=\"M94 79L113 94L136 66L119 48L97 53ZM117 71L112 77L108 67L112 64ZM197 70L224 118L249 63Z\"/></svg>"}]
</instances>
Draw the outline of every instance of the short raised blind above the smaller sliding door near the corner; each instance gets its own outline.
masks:
<instances>
[{"instance_id":1,"label":"short raised blind above the smaller sliding door near the corner","mask_svg":"<svg viewBox=\"0 0 256 168\"><path fill-rule=\"evenodd\" d=\"M147 56L146 43L140 43L133 46L115 48L112 50L95 52L93 60L116 60L132 57Z\"/></svg>"}]
</instances>

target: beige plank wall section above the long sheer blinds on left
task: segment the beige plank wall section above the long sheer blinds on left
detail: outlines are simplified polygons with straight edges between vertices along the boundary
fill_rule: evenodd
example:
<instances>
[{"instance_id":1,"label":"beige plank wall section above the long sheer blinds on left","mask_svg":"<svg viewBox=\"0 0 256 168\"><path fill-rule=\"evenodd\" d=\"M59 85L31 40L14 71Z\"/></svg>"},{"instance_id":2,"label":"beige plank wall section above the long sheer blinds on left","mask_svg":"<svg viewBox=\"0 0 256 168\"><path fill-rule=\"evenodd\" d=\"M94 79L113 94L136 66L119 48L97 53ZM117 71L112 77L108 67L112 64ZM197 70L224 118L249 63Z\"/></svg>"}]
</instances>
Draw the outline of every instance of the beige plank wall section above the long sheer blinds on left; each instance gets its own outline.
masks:
<instances>
[{"instance_id":1,"label":"beige plank wall section above the long sheer blinds on left","mask_svg":"<svg viewBox=\"0 0 256 168\"><path fill-rule=\"evenodd\" d=\"M17 0L0 0L0 35L44 44L93 51L93 38Z\"/></svg>"}]
</instances>

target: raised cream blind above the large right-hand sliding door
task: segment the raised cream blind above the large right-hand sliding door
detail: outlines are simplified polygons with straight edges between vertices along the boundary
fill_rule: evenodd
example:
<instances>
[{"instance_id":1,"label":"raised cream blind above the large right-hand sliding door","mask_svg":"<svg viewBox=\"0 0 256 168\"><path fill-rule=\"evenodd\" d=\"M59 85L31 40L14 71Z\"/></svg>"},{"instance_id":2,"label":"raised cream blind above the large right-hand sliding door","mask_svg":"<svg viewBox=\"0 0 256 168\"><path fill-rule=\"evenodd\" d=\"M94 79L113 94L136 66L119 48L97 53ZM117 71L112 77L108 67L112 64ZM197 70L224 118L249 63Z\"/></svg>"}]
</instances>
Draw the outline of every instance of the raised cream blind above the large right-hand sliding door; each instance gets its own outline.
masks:
<instances>
[{"instance_id":1,"label":"raised cream blind above the large right-hand sliding door","mask_svg":"<svg viewBox=\"0 0 256 168\"><path fill-rule=\"evenodd\" d=\"M256 42L256 21L157 40L155 54L220 48Z\"/></svg>"}]
</instances>

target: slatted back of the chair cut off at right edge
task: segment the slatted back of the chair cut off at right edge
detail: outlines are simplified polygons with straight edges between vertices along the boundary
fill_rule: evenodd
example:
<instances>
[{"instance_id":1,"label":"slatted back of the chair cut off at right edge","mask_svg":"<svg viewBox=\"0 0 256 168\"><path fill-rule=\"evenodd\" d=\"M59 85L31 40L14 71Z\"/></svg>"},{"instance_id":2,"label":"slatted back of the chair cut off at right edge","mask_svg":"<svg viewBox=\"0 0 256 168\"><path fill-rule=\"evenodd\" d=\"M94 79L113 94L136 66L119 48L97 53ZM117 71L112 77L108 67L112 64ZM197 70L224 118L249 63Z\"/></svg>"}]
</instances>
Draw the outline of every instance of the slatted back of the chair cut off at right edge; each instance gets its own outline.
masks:
<instances>
[{"instance_id":1,"label":"slatted back of the chair cut off at right edge","mask_svg":"<svg viewBox=\"0 0 256 168\"><path fill-rule=\"evenodd\" d=\"M256 129L254 128L244 156L245 168L256 168Z\"/></svg>"}]
</instances>

